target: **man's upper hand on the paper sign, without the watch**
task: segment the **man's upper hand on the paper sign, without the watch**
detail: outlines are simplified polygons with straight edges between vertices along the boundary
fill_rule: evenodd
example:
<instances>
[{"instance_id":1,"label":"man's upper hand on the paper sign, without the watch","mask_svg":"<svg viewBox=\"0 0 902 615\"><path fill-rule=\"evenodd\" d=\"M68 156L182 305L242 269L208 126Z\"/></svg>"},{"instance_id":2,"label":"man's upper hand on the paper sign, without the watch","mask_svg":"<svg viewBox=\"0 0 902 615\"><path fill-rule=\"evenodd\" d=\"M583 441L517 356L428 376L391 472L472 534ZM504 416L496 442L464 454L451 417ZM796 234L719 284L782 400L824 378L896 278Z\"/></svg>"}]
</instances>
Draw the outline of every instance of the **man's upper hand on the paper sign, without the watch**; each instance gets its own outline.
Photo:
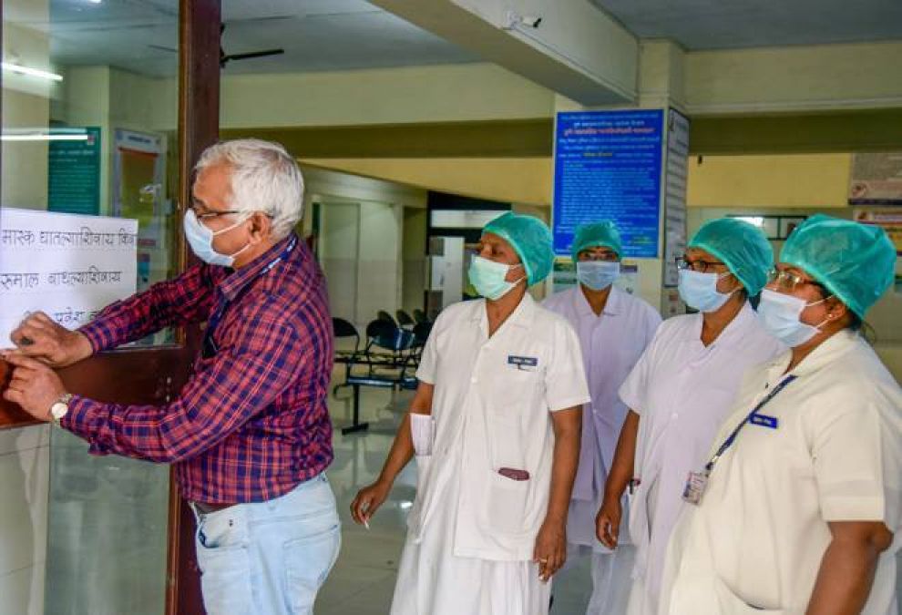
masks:
<instances>
[{"instance_id":1,"label":"man's upper hand on the paper sign, without the watch","mask_svg":"<svg viewBox=\"0 0 902 615\"><path fill-rule=\"evenodd\" d=\"M43 312L30 314L9 336L15 343L11 354L29 356L51 367L66 367L94 354L87 337L69 331Z\"/></svg>"}]
</instances>

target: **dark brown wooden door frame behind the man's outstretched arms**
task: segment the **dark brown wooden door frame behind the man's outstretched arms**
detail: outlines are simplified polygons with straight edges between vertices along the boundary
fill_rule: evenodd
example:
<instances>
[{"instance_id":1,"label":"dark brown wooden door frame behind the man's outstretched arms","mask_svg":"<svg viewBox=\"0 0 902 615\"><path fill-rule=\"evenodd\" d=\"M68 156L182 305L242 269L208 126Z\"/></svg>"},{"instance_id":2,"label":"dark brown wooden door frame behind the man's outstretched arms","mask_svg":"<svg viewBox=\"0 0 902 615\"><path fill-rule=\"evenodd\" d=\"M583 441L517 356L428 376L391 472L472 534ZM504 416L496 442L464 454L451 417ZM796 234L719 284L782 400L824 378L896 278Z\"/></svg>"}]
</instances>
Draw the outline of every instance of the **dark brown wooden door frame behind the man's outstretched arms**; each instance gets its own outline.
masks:
<instances>
[{"instance_id":1,"label":"dark brown wooden door frame behind the man's outstretched arms","mask_svg":"<svg viewBox=\"0 0 902 615\"><path fill-rule=\"evenodd\" d=\"M3 18L0 0L0 21ZM190 203L191 169L200 152L219 138L220 0L179 2L179 205ZM0 46L3 43L0 32ZM0 75L0 87L3 76ZM3 97L0 96L0 110ZM2 160L0 160L2 162ZM180 213L180 211L179 211ZM179 234L179 271L196 259ZM93 399L124 404L168 402L188 379L200 348L200 327L179 332L179 345L135 348L97 354L60 371L67 390ZM11 370L0 361L0 391ZM35 425L21 408L0 398L0 429ZM194 554L194 519L169 478L169 553L166 614L203 613L200 576Z\"/></svg>"}]
</instances>

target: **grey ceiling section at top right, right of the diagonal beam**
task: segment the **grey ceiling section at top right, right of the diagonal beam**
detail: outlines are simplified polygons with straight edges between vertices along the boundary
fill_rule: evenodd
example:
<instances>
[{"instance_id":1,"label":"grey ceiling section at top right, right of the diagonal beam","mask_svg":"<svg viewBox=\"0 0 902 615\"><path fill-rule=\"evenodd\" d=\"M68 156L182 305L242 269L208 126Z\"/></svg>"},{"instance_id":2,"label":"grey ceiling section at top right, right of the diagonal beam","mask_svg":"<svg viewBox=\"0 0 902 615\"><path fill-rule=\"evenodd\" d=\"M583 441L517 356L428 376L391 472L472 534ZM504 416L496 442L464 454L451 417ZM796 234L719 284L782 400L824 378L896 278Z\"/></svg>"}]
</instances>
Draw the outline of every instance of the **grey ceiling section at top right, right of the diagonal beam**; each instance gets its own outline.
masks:
<instances>
[{"instance_id":1,"label":"grey ceiling section at top right, right of the diagonal beam","mask_svg":"<svg viewBox=\"0 0 902 615\"><path fill-rule=\"evenodd\" d=\"M902 39L902 0L588 0L689 50Z\"/></svg>"}]
</instances>

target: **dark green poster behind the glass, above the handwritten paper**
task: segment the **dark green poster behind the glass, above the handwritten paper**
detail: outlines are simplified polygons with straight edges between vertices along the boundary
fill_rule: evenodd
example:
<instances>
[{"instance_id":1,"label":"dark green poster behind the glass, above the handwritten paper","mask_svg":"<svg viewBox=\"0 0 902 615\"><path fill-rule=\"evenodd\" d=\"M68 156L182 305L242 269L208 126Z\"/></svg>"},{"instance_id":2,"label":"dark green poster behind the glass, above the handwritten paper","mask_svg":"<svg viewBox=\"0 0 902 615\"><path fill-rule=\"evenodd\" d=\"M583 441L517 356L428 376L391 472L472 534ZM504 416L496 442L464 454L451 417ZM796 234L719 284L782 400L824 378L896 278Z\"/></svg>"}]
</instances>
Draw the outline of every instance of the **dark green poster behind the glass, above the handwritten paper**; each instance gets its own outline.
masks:
<instances>
[{"instance_id":1,"label":"dark green poster behind the glass, above the handwritten paper","mask_svg":"<svg viewBox=\"0 0 902 615\"><path fill-rule=\"evenodd\" d=\"M47 143L47 209L100 213L100 128L51 128Z\"/></svg>"}]
</instances>

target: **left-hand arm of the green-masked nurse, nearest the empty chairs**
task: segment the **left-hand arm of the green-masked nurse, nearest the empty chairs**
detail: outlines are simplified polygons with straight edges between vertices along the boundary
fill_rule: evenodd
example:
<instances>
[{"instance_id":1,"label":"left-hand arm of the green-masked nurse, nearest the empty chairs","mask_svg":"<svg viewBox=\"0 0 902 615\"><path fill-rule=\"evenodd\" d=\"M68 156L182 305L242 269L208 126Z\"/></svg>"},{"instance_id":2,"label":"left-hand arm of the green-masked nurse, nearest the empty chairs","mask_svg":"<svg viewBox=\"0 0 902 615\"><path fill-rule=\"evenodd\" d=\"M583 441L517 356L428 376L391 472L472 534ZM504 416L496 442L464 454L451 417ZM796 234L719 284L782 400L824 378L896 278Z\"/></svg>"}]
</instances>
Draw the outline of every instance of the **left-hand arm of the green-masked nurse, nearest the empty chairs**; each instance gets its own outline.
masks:
<instances>
[{"instance_id":1,"label":"left-hand arm of the green-masked nurse, nearest the empty chairs","mask_svg":"<svg viewBox=\"0 0 902 615\"><path fill-rule=\"evenodd\" d=\"M381 507L395 484L395 477L414 456L414 440L411 436L410 414L432 414L432 394L435 387L432 384L420 382L416 387L414 400L410 404L410 411L401 421L395 442L392 444L388 457L379 477L372 485L364 487L357 492L354 501L351 502L351 518L354 523L365 525L369 523L376 510Z\"/></svg>"}]
</instances>

